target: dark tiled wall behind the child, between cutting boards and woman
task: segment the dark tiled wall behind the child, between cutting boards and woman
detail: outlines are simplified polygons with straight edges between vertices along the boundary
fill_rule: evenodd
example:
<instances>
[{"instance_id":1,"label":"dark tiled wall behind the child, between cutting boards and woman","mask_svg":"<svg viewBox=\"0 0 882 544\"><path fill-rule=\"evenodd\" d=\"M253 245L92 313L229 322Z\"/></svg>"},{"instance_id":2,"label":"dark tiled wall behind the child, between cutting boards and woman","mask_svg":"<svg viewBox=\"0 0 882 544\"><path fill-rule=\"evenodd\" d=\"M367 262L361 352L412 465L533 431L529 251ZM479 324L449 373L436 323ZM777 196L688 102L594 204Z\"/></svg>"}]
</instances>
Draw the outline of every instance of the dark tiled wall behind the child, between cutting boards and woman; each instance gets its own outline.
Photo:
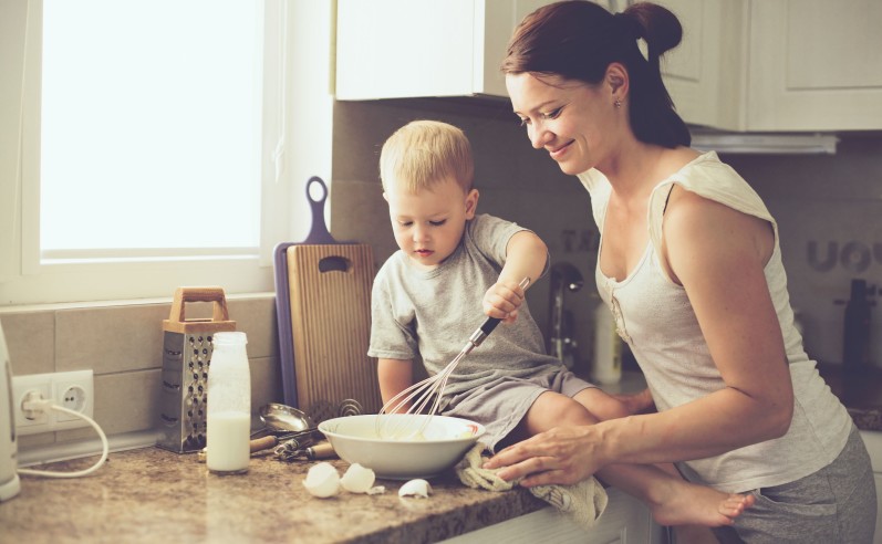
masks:
<instances>
[{"instance_id":1,"label":"dark tiled wall behind the child, between cutting boards and woman","mask_svg":"<svg viewBox=\"0 0 882 544\"><path fill-rule=\"evenodd\" d=\"M371 243L377 266L397 249L380 185L380 149L395 129L417 118L454 124L468 136L475 155L475 187L480 191L478 212L532 229L548 244L552 263L568 261L581 270L585 286L567 293L565 304L581 324L577 339L584 353L575 370L587 374L599 237L591 202L577 178L563 175L546 154L532 149L509 103L452 98L338 102L331 189L334 237ZM530 287L528 303L547 331L547 276ZM475 315L463 318L480 325L480 306L475 306Z\"/></svg>"}]
</instances>

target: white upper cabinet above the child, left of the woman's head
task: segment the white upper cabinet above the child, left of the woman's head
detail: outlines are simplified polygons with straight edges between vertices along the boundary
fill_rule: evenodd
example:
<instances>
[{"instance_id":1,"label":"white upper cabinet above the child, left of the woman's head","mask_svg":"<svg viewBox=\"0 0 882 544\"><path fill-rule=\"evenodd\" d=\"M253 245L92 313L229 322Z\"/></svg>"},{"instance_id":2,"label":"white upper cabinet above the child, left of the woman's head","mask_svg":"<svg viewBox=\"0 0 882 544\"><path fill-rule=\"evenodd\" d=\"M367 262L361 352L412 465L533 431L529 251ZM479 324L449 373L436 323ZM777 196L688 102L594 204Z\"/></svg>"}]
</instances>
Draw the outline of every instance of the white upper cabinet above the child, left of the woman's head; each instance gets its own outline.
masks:
<instances>
[{"instance_id":1,"label":"white upper cabinet above the child, left of the woman's head","mask_svg":"<svg viewBox=\"0 0 882 544\"><path fill-rule=\"evenodd\" d=\"M338 100L508 96L515 27L550 0L338 0Z\"/></svg>"}]
</instances>

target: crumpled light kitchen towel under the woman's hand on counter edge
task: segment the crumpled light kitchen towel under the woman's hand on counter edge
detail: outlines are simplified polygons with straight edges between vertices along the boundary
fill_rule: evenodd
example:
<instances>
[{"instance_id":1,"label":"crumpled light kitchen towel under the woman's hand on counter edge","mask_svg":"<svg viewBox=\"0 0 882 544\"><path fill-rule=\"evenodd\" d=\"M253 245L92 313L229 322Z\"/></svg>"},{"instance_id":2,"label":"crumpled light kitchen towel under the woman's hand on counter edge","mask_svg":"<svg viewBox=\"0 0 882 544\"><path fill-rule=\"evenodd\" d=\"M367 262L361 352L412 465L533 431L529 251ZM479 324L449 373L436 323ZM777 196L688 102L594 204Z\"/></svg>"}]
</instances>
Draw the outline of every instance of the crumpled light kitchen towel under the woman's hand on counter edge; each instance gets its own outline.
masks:
<instances>
[{"instance_id":1,"label":"crumpled light kitchen towel under the woman's hand on counter edge","mask_svg":"<svg viewBox=\"0 0 882 544\"><path fill-rule=\"evenodd\" d=\"M517 482L507 482L496 475L499 469L490 470L482 467L487 459L489 459L487 446L482 442L476 443L456 465L459 481L469 488L488 491L512 489ZM536 485L527 489L535 496L569 514L585 529L594 526L609 501L606 490L594 477L572 485Z\"/></svg>"}]
</instances>

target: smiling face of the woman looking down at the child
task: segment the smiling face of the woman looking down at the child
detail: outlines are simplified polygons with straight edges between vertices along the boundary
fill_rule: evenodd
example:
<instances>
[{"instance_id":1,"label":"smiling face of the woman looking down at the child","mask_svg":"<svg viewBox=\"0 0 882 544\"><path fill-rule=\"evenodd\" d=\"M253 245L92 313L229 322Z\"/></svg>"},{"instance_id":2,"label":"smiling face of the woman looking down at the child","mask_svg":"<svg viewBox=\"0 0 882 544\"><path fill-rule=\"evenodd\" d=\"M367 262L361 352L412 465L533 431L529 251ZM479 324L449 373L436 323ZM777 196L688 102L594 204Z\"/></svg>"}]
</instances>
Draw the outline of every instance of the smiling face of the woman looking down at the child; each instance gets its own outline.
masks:
<instances>
[{"instance_id":1,"label":"smiling face of the woman looking down at the child","mask_svg":"<svg viewBox=\"0 0 882 544\"><path fill-rule=\"evenodd\" d=\"M606 85L540 77L530 73L506 75L511 105L527 127L530 143L537 149L544 148L564 174L595 168L608 157L624 108L615 107L615 97Z\"/></svg>"}]
</instances>

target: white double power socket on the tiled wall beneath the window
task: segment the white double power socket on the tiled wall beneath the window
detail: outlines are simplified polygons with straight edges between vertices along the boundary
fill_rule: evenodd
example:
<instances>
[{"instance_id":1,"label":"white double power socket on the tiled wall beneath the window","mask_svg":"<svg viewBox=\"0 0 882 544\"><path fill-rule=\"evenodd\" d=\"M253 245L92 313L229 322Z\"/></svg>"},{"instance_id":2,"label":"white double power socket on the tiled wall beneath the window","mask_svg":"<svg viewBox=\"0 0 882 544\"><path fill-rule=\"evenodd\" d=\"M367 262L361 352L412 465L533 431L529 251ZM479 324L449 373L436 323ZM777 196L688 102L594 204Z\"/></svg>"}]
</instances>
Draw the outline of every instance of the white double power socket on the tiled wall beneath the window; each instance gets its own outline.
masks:
<instances>
[{"instance_id":1,"label":"white double power socket on the tiled wall beneath the window","mask_svg":"<svg viewBox=\"0 0 882 544\"><path fill-rule=\"evenodd\" d=\"M89 423L75 416L48 408L38 417L24 414L22 402L29 394L37 393L56 406L93 417L95 386L92 370L31 374L12 376L12 409L15 411L15 430L19 435L38 435L58 430L79 429Z\"/></svg>"}]
</instances>

